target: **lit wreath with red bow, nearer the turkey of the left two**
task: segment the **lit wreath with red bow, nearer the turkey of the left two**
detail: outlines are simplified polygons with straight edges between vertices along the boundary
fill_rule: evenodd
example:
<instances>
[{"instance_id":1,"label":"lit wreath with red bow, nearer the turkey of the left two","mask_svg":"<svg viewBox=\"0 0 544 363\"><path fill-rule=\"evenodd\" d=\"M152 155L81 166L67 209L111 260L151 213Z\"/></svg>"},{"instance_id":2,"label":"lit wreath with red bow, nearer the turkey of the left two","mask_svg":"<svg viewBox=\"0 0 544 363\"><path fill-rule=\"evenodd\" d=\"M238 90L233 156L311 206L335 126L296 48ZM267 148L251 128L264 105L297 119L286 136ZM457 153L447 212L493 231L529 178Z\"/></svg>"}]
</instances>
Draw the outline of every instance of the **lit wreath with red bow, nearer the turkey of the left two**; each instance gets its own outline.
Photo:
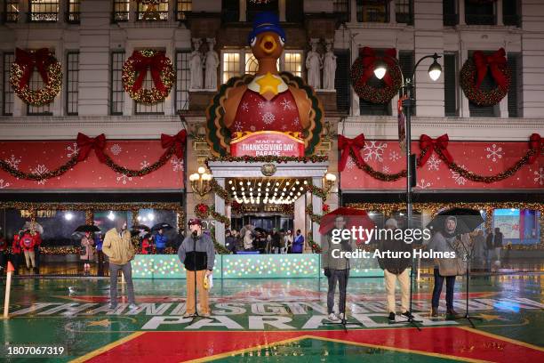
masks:
<instances>
[{"instance_id":1,"label":"lit wreath with red bow, nearer the turkey of the left two","mask_svg":"<svg viewBox=\"0 0 544 363\"><path fill-rule=\"evenodd\" d=\"M142 88L148 70L151 72L154 87ZM175 81L172 61L164 55L164 52L144 50L134 51L132 56L124 62L123 86L132 100L154 104L164 101L170 93Z\"/></svg>"}]
</instances>

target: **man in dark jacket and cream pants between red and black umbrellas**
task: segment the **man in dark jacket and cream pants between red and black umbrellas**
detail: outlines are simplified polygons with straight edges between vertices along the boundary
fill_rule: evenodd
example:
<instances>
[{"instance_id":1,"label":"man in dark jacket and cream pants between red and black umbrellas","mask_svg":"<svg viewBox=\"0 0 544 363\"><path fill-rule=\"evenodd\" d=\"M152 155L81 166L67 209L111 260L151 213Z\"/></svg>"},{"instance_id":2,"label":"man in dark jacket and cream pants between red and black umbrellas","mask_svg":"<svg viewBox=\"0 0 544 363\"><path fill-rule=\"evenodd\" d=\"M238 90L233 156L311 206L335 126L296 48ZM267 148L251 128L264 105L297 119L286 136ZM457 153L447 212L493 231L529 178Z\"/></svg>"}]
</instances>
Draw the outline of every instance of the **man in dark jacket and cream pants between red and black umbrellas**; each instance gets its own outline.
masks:
<instances>
[{"instance_id":1,"label":"man in dark jacket and cream pants between red and black umbrellas","mask_svg":"<svg viewBox=\"0 0 544 363\"><path fill-rule=\"evenodd\" d=\"M387 253L387 251L408 254L412 256L412 245L409 245L404 242L404 240L396 240L393 238L395 235L395 230L398 229L396 220L390 218L385 223L386 230L392 230L391 236L387 236L379 241L378 249L380 254ZM389 233L389 232L388 232ZM395 309L395 286L396 280L401 286L401 309L402 315L406 318L412 316L410 312L410 273L408 268L412 264L412 258L402 257L402 258L379 258L378 263L380 268L383 270L385 284L386 284L386 293L388 296L388 313L389 313L389 322L393 323L395 321L396 309Z\"/></svg>"}]
</instances>

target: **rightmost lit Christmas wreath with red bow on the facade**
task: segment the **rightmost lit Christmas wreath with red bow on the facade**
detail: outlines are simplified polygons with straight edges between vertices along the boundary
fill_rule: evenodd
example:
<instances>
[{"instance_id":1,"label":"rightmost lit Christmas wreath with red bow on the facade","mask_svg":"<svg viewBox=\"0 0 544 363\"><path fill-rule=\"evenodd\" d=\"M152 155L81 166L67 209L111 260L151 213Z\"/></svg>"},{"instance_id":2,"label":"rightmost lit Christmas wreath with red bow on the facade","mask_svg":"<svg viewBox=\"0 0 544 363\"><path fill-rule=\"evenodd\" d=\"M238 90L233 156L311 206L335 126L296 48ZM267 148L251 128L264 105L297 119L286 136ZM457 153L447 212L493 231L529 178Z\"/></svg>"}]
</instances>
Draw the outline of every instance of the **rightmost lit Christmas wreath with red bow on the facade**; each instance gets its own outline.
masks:
<instances>
[{"instance_id":1,"label":"rightmost lit Christmas wreath with red bow on the facade","mask_svg":"<svg viewBox=\"0 0 544 363\"><path fill-rule=\"evenodd\" d=\"M460 71L460 86L468 100L478 106L492 106L507 95L511 75L505 55L503 48L491 55L476 51L472 58L465 61ZM480 89L480 85L488 69L497 86L490 91L484 91Z\"/></svg>"}]
</instances>

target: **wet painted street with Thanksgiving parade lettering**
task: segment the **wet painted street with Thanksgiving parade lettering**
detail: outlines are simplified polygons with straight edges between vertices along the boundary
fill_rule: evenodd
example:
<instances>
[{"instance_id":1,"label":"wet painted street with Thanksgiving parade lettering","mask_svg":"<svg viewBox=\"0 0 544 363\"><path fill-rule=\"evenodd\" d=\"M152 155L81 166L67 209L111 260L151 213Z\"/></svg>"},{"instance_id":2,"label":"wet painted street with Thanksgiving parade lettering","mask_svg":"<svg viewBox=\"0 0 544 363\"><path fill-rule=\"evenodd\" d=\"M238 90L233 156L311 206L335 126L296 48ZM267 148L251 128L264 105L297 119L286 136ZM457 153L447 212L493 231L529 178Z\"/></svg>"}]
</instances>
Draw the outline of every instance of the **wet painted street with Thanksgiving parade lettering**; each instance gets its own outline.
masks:
<instances>
[{"instance_id":1,"label":"wet painted street with Thanksgiving parade lettering","mask_svg":"<svg viewBox=\"0 0 544 363\"><path fill-rule=\"evenodd\" d=\"M383 278L351 278L348 333L326 325L326 280L216 279L212 319L184 319L185 280L135 280L139 308L122 298L108 310L108 279L16 278L12 318L2 321L7 346L64 348L60 356L4 361L544 361L544 274L478 276L469 310L484 320L431 319L432 278L414 284L413 311L421 331L389 325ZM465 281L455 309L465 311ZM119 285L124 295L124 285ZM445 290L445 288L444 288ZM444 314L444 296L441 299ZM399 318L397 318L398 320ZM6 346L6 347L7 347ZM4 348L6 348L4 347ZM7 349L7 348L6 348Z\"/></svg>"}]
</instances>

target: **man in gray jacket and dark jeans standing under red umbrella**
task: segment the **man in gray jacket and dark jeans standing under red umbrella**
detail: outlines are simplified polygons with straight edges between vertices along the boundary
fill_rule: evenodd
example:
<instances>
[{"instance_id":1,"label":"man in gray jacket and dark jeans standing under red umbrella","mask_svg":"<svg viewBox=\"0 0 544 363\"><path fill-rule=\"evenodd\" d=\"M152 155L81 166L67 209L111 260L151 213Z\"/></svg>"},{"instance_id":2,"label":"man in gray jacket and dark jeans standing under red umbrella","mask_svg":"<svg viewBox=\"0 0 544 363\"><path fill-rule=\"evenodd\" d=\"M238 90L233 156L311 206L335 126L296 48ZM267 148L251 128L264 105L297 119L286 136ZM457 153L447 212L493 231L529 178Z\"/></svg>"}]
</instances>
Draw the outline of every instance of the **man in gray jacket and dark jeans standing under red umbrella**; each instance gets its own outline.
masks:
<instances>
[{"instance_id":1,"label":"man in gray jacket and dark jeans standing under red umbrella","mask_svg":"<svg viewBox=\"0 0 544 363\"><path fill-rule=\"evenodd\" d=\"M351 239L342 240L336 244L332 242L332 233L334 230L344 230L346 227L346 219L339 215L334 220L334 229L330 230L323 236L321 246L323 252L321 255L321 267L324 269L324 275L329 280L329 291L327 293L327 311L329 320L338 321L345 318L346 313L346 287L348 286L349 277L349 259L345 256L340 256L341 252L353 250ZM336 283L340 291L339 314L334 315L334 293L336 292Z\"/></svg>"}]
</instances>

